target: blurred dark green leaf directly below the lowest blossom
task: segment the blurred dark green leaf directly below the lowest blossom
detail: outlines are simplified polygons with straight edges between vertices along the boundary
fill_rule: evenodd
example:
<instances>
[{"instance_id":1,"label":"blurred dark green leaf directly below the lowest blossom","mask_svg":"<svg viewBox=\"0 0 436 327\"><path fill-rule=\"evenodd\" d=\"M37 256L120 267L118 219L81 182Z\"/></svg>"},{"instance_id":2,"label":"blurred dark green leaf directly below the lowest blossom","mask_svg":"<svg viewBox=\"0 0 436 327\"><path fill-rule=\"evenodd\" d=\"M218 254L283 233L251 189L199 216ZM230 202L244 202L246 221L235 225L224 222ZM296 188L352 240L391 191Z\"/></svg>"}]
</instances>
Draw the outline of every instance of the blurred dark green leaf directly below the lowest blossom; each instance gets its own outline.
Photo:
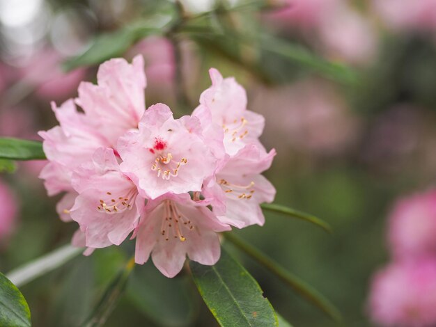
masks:
<instances>
[{"instance_id":1,"label":"blurred dark green leaf directly below the lowest blossom","mask_svg":"<svg viewBox=\"0 0 436 327\"><path fill-rule=\"evenodd\" d=\"M192 326L200 303L190 279L187 275L166 278L153 264L137 266L127 285L127 298L158 326Z\"/></svg>"}]
</instances>

